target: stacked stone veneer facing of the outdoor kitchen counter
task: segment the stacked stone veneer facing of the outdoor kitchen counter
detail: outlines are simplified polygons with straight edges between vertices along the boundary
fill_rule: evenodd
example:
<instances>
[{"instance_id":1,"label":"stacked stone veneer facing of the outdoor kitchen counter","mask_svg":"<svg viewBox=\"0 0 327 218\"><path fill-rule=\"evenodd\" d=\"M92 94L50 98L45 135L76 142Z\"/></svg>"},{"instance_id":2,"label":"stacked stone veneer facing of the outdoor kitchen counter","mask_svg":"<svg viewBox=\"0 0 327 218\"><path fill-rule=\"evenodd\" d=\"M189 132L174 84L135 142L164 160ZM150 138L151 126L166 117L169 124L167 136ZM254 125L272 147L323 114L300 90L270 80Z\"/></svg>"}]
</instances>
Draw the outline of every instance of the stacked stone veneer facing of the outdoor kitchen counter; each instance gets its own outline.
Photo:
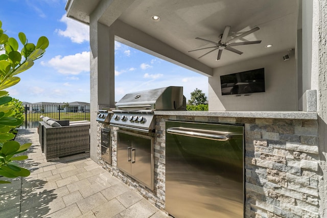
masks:
<instances>
[{"instance_id":1,"label":"stacked stone veneer facing of the outdoor kitchen counter","mask_svg":"<svg viewBox=\"0 0 327 218\"><path fill-rule=\"evenodd\" d=\"M156 116L154 140L155 189L116 168L115 129L111 129L112 166L100 158L101 128L98 125L99 164L113 176L137 189L161 210L165 209L165 120L244 124L245 126L245 217L319 217L317 120Z\"/></svg>"}]
</instances>

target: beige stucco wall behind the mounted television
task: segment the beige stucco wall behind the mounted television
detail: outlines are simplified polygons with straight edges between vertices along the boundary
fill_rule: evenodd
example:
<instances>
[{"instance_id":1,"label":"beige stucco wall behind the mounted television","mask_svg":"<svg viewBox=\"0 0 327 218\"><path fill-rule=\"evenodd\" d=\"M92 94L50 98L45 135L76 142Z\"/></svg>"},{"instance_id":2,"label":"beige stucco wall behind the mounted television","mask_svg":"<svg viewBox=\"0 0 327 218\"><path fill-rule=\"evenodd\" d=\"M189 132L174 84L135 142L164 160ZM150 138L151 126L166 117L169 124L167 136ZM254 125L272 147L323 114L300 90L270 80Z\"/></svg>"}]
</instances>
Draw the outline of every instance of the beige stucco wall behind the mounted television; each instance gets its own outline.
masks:
<instances>
[{"instance_id":1,"label":"beige stucco wall behind the mounted television","mask_svg":"<svg viewBox=\"0 0 327 218\"><path fill-rule=\"evenodd\" d=\"M214 69L209 78L209 110L296 111L296 76L294 55L277 53ZM221 95L220 76L245 70L265 68L266 91L247 96Z\"/></svg>"}]
</instances>

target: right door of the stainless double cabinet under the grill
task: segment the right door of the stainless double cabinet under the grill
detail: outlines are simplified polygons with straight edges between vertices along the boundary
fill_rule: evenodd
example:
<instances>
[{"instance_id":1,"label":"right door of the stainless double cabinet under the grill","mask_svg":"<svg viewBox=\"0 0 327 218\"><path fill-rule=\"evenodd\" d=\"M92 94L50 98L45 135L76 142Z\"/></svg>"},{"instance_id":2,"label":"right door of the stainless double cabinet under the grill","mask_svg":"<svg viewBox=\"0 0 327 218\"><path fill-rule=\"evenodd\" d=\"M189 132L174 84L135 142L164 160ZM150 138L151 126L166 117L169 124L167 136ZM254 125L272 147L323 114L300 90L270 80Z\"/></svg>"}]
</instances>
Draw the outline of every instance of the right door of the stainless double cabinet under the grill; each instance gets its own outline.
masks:
<instances>
[{"instance_id":1,"label":"right door of the stainless double cabinet under the grill","mask_svg":"<svg viewBox=\"0 0 327 218\"><path fill-rule=\"evenodd\" d=\"M152 186L150 138L134 137L132 141L132 175L148 186Z\"/></svg>"}]
</instances>

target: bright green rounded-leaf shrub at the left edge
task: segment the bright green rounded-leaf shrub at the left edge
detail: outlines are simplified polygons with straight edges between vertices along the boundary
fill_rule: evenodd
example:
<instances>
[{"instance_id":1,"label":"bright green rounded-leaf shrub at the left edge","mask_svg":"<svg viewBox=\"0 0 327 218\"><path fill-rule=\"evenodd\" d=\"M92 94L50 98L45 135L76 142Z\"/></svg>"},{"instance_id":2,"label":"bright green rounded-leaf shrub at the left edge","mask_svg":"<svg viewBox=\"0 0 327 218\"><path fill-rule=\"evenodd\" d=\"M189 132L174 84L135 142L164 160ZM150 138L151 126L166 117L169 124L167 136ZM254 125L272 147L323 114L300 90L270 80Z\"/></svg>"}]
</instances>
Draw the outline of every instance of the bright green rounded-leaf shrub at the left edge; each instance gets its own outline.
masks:
<instances>
[{"instance_id":1,"label":"bright green rounded-leaf shrub at the left edge","mask_svg":"<svg viewBox=\"0 0 327 218\"><path fill-rule=\"evenodd\" d=\"M0 21L0 51L5 52L0 55L0 175L8 178L30 175L28 169L19 167L13 161L27 159L26 155L16 155L27 151L31 143L20 145L12 140L15 135L10 131L22 124L24 107L22 109L17 107L21 102L7 96L8 92L4 89L17 84L20 78L15 75L31 68L34 61L41 58L46 47L49 46L49 40L44 36L38 39L36 45L28 43L24 33L18 33L18 38L22 44L20 52L18 41L5 34ZM0 183L10 182L0 181Z\"/></svg>"}]
</instances>

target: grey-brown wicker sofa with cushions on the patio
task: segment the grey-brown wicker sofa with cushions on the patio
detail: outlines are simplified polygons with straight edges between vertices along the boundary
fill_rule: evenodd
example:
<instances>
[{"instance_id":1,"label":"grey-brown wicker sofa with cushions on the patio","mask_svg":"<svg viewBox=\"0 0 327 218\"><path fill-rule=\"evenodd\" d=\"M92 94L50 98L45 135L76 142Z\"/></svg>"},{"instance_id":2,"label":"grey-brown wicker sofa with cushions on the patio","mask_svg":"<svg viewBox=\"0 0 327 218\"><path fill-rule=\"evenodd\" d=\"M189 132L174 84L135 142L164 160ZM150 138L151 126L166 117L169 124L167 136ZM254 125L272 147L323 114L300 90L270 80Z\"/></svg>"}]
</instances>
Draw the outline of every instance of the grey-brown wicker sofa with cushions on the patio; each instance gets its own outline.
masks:
<instances>
[{"instance_id":1,"label":"grey-brown wicker sofa with cushions on the patio","mask_svg":"<svg viewBox=\"0 0 327 218\"><path fill-rule=\"evenodd\" d=\"M39 122L39 140L47 160L89 152L89 128L86 122L69 125L69 120L56 120L60 126Z\"/></svg>"}]
</instances>

